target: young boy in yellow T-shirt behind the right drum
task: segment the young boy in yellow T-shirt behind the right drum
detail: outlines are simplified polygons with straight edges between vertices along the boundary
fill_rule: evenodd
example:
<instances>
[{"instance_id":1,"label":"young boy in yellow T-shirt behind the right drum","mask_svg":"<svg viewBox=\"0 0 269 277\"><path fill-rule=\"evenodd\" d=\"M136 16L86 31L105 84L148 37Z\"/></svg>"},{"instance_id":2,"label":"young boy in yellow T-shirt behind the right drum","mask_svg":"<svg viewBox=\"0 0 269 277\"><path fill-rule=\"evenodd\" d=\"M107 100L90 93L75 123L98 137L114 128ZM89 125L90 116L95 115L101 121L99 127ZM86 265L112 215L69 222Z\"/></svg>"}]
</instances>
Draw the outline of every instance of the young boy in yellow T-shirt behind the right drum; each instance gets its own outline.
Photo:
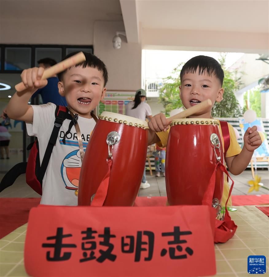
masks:
<instances>
[{"instance_id":1,"label":"young boy in yellow T-shirt behind the right drum","mask_svg":"<svg viewBox=\"0 0 269 277\"><path fill-rule=\"evenodd\" d=\"M182 67L180 73L181 86L179 86L179 96L184 107L190 108L198 103L210 99L212 106L202 114L193 114L190 118L212 118L211 110L215 102L223 99L224 89L222 88L224 72L220 64L211 57L197 56L191 58ZM166 123L164 114L155 115L149 122L150 143L158 143L159 146L165 147L168 140L169 125ZM228 170L238 175L248 166L253 151L257 149L262 141L257 131L257 127L248 128L244 134L244 147L241 150L237 143L234 130L228 124L230 133L230 146L227 150L225 162ZM162 132L164 131L164 132ZM158 132L157 134L154 132ZM222 134L221 134L222 135ZM222 145L223 138L222 138ZM224 189L221 205L225 206L228 198L229 187L227 178L224 176ZM228 201L228 206L232 204Z\"/></svg>"}]
</instances>

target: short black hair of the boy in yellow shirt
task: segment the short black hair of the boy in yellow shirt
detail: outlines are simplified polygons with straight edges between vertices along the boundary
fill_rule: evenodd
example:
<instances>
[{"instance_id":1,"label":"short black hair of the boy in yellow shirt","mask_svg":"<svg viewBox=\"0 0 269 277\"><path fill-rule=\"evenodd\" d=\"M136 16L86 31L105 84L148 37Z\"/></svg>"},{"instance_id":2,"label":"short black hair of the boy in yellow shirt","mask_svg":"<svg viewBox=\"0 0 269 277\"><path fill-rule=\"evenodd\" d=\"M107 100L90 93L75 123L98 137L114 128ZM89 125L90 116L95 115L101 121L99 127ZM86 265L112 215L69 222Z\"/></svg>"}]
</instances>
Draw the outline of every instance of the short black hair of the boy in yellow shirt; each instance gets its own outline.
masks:
<instances>
[{"instance_id":1,"label":"short black hair of the boy in yellow shirt","mask_svg":"<svg viewBox=\"0 0 269 277\"><path fill-rule=\"evenodd\" d=\"M212 57L208 56L196 56L191 58L185 65L182 67L180 72L180 79L184 74L187 73L195 73L199 67L199 75L208 74L212 76L213 74L220 80L220 84L223 84L224 72L220 66L220 64Z\"/></svg>"}]
</instances>

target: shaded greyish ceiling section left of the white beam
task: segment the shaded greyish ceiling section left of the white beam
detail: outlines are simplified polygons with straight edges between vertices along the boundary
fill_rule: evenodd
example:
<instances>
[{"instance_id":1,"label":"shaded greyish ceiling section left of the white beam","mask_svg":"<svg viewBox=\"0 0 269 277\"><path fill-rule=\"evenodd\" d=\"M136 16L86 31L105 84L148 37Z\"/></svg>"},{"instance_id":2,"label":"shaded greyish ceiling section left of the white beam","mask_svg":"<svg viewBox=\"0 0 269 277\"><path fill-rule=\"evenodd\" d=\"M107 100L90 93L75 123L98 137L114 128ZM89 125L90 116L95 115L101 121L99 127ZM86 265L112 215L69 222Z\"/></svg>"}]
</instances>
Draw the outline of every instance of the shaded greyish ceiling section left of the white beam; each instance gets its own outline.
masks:
<instances>
[{"instance_id":1,"label":"shaded greyish ceiling section left of the white beam","mask_svg":"<svg viewBox=\"0 0 269 277\"><path fill-rule=\"evenodd\" d=\"M122 20L119 0L0 0L2 19Z\"/></svg>"}]
</instances>

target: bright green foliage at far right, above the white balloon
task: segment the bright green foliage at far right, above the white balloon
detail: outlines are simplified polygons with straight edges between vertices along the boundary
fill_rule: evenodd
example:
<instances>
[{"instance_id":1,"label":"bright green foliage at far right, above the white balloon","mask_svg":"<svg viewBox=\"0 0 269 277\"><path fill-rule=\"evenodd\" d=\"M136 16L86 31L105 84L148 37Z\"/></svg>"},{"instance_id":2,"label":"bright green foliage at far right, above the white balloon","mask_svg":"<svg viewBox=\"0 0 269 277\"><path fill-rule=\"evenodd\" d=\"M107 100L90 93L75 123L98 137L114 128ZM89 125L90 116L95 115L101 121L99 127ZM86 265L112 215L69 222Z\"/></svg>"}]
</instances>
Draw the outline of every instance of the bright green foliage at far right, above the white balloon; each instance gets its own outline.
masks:
<instances>
[{"instance_id":1,"label":"bright green foliage at far right, above the white balloon","mask_svg":"<svg viewBox=\"0 0 269 277\"><path fill-rule=\"evenodd\" d=\"M261 117L261 92L260 85L247 90L244 93L244 108L243 113L247 110L246 100L249 102L249 109L255 110L257 117Z\"/></svg>"}]
</instances>

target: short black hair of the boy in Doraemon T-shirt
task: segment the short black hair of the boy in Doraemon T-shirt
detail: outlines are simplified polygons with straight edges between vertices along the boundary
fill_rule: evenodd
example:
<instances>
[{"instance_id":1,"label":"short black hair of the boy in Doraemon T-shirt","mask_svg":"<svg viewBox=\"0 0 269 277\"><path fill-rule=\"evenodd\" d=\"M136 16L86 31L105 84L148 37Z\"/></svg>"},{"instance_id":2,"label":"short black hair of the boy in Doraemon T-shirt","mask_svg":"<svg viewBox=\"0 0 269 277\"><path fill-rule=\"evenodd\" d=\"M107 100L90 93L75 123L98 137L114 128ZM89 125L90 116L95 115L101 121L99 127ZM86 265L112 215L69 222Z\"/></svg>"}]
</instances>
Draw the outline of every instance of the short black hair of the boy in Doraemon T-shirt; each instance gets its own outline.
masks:
<instances>
[{"instance_id":1,"label":"short black hair of the boy in Doraemon T-shirt","mask_svg":"<svg viewBox=\"0 0 269 277\"><path fill-rule=\"evenodd\" d=\"M67 59L67 58L72 57L73 55L75 55L77 53L79 53L79 51L72 52L72 53L68 54L64 58L64 60ZM85 68L85 67L92 67L92 68L98 69L103 74L104 86L106 86L107 80L108 80L108 74L107 74L107 67L106 67L106 65L99 58L97 58L95 55L93 55L91 53L83 51L83 54L85 55L86 60L84 62L81 62L81 63L77 64L75 67L82 66L83 68ZM60 72L58 74L59 81L63 80L63 76L66 73L66 71L67 70L64 70L64 71L62 71L62 72Z\"/></svg>"}]
</instances>

